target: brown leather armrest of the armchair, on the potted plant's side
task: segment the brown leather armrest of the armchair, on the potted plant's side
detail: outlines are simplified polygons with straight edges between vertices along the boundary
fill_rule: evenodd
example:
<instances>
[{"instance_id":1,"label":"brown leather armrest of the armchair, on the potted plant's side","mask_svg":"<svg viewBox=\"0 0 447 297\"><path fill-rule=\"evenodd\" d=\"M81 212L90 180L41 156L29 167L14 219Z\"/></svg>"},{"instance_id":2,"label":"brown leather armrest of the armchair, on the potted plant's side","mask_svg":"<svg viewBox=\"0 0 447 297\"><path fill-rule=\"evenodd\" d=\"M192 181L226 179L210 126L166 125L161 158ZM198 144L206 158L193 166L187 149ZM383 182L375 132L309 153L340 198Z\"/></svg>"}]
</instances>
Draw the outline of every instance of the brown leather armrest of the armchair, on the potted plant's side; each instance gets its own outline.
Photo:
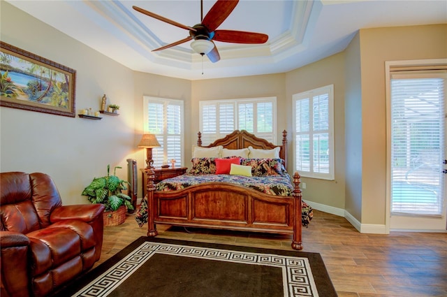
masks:
<instances>
[{"instance_id":1,"label":"brown leather armrest of the armchair, on the potted plant's side","mask_svg":"<svg viewBox=\"0 0 447 297\"><path fill-rule=\"evenodd\" d=\"M80 219L89 223L103 215L104 208L102 204L64 205L52 211L50 221L55 223L64 219Z\"/></svg>"}]
</instances>

